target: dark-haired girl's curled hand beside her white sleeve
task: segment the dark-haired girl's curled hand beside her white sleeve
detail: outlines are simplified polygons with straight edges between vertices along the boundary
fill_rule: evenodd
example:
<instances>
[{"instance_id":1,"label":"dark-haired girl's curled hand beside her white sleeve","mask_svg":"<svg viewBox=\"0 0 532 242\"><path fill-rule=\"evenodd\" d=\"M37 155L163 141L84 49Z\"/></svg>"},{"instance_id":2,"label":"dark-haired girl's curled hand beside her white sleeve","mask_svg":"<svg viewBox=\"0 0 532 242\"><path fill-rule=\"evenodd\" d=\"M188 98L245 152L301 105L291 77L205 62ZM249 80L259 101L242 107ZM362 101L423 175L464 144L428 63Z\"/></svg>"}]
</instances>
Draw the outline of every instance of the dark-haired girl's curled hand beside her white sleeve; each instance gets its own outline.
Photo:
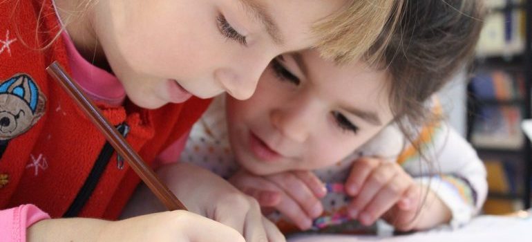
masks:
<instances>
[{"instance_id":1,"label":"dark-haired girl's curled hand beside her white sleeve","mask_svg":"<svg viewBox=\"0 0 532 242\"><path fill-rule=\"evenodd\" d=\"M421 189L396 162L360 158L353 162L345 192L354 197L348 206L350 216L363 225L371 225L392 208L395 212L390 211L386 218L403 224L413 222L420 204ZM409 223L404 227L413 225Z\"/></svg>"}]
</instances>

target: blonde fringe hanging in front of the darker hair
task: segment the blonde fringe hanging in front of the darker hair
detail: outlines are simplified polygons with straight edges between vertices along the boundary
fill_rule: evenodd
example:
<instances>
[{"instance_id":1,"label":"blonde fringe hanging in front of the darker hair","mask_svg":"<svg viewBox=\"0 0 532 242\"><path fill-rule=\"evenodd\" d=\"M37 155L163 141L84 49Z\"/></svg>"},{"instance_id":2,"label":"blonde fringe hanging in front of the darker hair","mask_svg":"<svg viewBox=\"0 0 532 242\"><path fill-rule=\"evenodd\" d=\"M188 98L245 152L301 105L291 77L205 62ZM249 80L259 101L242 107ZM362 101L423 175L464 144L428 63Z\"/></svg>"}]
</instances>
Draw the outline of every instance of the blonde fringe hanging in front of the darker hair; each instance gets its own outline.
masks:
<instances>
[{"instance_id":1,"label":"blonde fringe hanging in front of the darker hair","mask_svg":"<svg viewBox=\"0 0 532 242\"><path fill-rule=\"evenodd\" d=\"M343 10L316 23L314 35L320 41L313 47L340 64L362 57L377 62L399 22L403 1L349 0Z\"/></svg>"}]
</instances>

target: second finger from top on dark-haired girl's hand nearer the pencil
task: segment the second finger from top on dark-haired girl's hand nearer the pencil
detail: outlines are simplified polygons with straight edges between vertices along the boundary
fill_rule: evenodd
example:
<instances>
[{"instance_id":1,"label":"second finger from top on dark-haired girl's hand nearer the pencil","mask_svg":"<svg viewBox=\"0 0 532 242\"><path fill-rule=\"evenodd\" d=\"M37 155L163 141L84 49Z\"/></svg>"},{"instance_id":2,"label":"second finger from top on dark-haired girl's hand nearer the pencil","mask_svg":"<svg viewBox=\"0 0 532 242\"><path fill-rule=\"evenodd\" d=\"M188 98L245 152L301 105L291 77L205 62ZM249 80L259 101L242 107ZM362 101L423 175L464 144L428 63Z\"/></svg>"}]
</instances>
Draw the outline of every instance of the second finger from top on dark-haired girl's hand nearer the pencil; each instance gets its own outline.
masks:
<instances>
[{"instance_id":1,"label":"second finger from top on dark-haired girl's hand nearer the pencil","mask_svg":"<svg viewBox=\"0 0 532 242\"><path fill-rule=\"evenodd\" d=\"M314 196L311 189L298 176L292 173L283 173L270 176L270 178L278 187L283 189L288 196L287 198L297 203L298 207L301 207L311 218L316 218L323 212L320 199Z\"/></svg>"}]
</instances>

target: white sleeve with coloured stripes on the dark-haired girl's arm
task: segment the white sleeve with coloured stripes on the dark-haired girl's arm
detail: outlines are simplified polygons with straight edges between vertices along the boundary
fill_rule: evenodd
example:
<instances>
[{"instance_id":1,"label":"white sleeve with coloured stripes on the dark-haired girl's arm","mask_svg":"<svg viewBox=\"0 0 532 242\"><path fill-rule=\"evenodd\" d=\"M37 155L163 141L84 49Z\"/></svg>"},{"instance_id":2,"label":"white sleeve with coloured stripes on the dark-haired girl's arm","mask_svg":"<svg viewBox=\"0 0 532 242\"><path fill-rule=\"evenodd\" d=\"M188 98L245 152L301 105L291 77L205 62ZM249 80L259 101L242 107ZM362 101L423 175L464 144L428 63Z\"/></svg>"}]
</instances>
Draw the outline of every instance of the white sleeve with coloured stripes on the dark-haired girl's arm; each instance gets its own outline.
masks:
<instances>
[{"instance_id":1,"label":"white sleeve with coloured stripes on the dark-haired girl's arm","mask_svg":"<svg viewBox=\"0 0 532 242\"><path fill-rule=\"evenodd\" d=\"M486 200L486 168L455 129L446 122L440 124L433 140L424 144L422 158L405 162L403 167L439 196L453 214L450 225L459 227L470 221Z\"/></svg>"}]
</instances>

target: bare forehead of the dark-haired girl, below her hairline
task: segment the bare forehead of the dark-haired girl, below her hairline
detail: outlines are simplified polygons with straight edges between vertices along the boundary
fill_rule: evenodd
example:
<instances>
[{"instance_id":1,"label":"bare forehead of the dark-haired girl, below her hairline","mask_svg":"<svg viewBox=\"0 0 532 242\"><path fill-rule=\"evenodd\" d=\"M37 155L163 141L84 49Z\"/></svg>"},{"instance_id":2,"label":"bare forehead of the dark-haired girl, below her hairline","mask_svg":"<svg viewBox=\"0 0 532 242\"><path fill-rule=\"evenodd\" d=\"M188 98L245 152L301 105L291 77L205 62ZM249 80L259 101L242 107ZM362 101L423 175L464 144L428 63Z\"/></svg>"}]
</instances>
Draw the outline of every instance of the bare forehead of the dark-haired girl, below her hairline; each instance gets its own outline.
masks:
<instances>
[{"instance_id":1,"label":"bare forehead of the dark-haired girl, below her hairline","mask_svg":"<svg viewBox=\"0 0 532 242\"><path fill-rule=\"evenodd\" d=\"M306 78L323 99L391 117L391 78L386 69L372 68L365 62L338 65L321 58L316 50L305 50L300 56L307 65Z\"/></svg>"}]
</instances>

